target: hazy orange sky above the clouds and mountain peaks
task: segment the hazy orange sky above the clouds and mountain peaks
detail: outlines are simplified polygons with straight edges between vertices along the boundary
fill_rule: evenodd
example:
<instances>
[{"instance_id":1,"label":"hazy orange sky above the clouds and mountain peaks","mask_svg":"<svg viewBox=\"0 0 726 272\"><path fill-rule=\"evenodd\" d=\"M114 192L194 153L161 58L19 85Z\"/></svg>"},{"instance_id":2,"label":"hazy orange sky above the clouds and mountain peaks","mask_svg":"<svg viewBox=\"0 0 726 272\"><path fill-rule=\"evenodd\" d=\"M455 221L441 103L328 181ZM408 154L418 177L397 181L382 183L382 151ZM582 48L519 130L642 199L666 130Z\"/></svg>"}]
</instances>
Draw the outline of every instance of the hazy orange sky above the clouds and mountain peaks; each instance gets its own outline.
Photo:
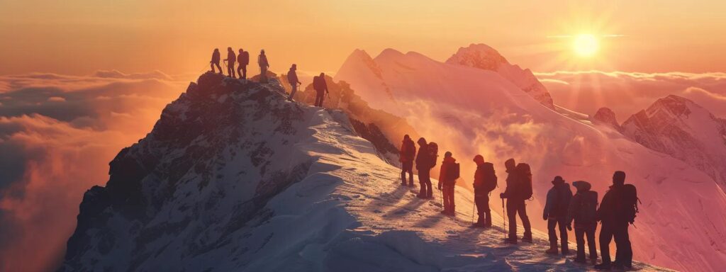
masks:
<instances>
[{"instance_id":1,"label":"hazy orange sky above the clouds and mountain peaks","mask_svg":"<svg viewBox=\"0 0 726 272\"><path fill-rule=\"evenodd\" d=\"M266 49L272 70L335 72L356 48L444 60L471 43L537 71L726 70L726 1L514 2L0 0L0 74L197 73L227 46ZM552 38L577 33L623 36L591 58Z\"/></svg>"}]
</instances>

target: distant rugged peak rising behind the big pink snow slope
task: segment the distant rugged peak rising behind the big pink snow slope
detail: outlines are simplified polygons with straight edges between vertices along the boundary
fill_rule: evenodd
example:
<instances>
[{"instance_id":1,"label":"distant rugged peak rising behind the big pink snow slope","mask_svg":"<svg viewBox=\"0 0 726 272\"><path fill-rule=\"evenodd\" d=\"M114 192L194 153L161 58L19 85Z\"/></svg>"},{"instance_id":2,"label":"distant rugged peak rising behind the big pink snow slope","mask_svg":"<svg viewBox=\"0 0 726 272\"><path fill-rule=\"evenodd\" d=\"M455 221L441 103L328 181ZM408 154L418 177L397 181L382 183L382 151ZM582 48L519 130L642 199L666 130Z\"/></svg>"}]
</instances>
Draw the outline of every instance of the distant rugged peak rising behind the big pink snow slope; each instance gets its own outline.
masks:
<instances>
[{"instance_id":1,"label":"distant rugged peak rising behind the big pink snow slope","mask_svg":"<svg viewBox=\"0 0 726 272\"><path fill-rule=\"evenodd\" d=\"M511 65L502 54L499 54L499 51L486 44L470 44L468 47L461 47L456 54L446 60L446 63L499 73L540 103L550 109L555 108L550 92L537 80L531 70L522 70L518 65Z\"/></svg>"}]
</instances>

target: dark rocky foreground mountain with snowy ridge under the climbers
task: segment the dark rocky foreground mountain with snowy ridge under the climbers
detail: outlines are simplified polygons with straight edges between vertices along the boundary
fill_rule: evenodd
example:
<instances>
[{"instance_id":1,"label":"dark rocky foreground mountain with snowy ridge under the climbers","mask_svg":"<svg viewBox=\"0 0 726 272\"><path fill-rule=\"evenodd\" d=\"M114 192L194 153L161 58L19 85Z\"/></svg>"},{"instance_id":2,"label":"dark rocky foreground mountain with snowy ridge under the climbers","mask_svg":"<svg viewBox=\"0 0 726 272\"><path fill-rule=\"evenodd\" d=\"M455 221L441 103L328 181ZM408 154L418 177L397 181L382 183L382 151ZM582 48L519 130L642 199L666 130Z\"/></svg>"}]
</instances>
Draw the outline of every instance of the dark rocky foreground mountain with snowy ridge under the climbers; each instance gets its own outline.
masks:
<instances>
[{"instance_id":1,"label":"dark rocky foreground mountain with snowy ridge under the climbers","mask_svg":"<svg viewBox=\"0 0 726 272\"><path fill-rule=\"evenodd\" d=\"M339 111L207 73L83 197L59 271L582 271L398 186ZM497 202L492 203L497 207ZM494 218L497 226L500 218ZM642 263L647 271L665 271Z\"/></svg>"}]
</instances>

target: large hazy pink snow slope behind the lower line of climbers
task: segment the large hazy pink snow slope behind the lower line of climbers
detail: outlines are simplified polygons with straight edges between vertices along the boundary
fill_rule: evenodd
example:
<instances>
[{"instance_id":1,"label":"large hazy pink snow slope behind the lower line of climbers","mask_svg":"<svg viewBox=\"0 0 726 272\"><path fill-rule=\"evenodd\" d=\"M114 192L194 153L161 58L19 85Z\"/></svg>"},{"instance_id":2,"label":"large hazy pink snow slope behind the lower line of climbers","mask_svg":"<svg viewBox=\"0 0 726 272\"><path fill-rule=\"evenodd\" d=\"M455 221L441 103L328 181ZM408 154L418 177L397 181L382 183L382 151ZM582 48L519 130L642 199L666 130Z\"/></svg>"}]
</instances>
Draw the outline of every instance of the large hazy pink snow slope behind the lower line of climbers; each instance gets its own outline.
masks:
<instances>
[{"instance_id":1,"label":"large hazy pink snow slope behind the lower line of climbers","mask_svg":"<svg viewBox=\"0 0 726 272\"><path fill-rule=\"evenodd\" d=\"M537 228L546 229L537 215L552 177L590 181L602 196L613 171L624 170L643 201L631 228L635 258L685 271L719 271L726 263L726 194L701 170L610 125L568 118L491 70L393 49L372 64L364 59L356 51L335 78L381 110L407 118L441 152L465 162L465 173L473 171L466 162L475 154L493 161L498 173L507 158L529 162L535 193L528 209ZM380 86L393 99L380 96Z\"/></svg>"}]
</instances>

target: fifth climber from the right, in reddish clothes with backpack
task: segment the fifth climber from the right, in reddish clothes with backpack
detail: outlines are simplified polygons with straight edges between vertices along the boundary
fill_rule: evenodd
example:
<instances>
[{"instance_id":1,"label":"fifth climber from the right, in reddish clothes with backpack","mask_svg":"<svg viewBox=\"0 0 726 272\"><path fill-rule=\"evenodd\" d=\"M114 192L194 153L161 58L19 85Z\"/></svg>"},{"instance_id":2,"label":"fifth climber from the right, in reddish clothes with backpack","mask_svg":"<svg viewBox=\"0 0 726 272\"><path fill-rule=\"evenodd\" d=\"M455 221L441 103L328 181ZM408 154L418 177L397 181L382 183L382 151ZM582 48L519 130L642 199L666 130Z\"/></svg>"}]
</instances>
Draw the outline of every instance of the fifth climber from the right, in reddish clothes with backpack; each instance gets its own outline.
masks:
<instances>
[{"instance_id":1,"label":"fifth climber from the right, in reddish clothes with backpack","mask_svg":"<svg viewBox=\"0 0 726 272\"><path fill-rule=\"evenodd\" d=\"M489 228L492 226L492 212L489 210L489 192L497 188L497 174L494 173L492 162L484 162L481 155L474 156L476 172L474 172L474 203L479 215L474 228Z\"/></svg>"}]
</instances>

